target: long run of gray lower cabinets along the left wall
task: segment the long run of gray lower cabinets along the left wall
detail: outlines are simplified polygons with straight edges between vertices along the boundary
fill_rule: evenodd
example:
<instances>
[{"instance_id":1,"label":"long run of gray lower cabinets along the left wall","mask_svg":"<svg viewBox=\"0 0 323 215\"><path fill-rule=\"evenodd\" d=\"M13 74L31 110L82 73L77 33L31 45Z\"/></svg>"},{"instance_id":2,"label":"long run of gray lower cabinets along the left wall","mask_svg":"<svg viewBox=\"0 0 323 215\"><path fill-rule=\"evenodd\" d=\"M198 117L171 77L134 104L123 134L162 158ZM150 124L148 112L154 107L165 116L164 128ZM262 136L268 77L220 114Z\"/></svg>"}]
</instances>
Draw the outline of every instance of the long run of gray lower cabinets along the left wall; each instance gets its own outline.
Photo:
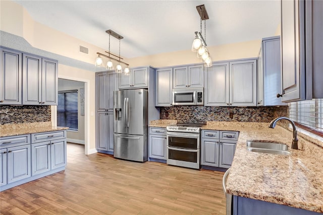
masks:
<instances>
[{"instance_id":1,"label":"long run of gray lower cabinets along the left wall","mask_svg":"<svg viewBox=\"0 0 323 215\"><path fill-rule=\"evenodd\" d=\"M65 170L66 131L0 137L0 190Z\"/></svg>"}]
</instances>

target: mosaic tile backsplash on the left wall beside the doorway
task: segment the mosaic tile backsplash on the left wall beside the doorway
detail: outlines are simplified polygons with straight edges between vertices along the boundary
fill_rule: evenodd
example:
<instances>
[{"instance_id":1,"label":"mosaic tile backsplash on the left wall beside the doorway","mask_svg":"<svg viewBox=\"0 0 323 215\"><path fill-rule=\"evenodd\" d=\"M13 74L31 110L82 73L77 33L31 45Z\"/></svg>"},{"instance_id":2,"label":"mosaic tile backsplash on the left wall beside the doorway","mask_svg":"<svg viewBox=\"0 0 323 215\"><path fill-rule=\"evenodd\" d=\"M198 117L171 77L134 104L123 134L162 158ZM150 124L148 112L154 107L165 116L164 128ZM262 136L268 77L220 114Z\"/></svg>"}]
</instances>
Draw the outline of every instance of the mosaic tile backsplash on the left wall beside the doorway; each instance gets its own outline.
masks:
<instances>
[{"instance_id":1,"label":"mosaic tile backsplash on the left wall beside the doorway","mask_svg":"<svg viewBox=\"0 0 323 215\"><path fill-rule=\"evenodd\" d=\"M23 105L23 106L0 106L0 125L17 123L34 123L50 121L50 106Z\"/></svg>"}]
</instances>

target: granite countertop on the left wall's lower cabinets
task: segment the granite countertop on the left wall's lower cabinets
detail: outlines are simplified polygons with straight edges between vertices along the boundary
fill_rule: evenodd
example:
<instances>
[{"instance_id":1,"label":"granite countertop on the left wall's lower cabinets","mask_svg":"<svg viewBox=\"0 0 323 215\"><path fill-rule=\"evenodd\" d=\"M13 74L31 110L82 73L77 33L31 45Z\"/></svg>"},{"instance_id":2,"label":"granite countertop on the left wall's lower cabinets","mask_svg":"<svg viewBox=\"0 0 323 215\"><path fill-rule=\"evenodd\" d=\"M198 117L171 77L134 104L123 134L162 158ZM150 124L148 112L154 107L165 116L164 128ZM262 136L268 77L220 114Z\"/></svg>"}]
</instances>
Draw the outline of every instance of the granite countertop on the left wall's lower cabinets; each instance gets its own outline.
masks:
<instances>
[{"instance_id":1,"label":"granite countertop on the left wall's lower cabinets","mask_svg":"<svg viewBox=\"0 0 323 215\"><path fill-rule=\"evenodd\" d=\"M59 130L66 130L66 129L68 129L68 127L51 126L51 122L0 125L0 137L8 137L8 136L40 133L40 132L48 132L48 131L59 131Z\"/></svg>"}]
</instances>

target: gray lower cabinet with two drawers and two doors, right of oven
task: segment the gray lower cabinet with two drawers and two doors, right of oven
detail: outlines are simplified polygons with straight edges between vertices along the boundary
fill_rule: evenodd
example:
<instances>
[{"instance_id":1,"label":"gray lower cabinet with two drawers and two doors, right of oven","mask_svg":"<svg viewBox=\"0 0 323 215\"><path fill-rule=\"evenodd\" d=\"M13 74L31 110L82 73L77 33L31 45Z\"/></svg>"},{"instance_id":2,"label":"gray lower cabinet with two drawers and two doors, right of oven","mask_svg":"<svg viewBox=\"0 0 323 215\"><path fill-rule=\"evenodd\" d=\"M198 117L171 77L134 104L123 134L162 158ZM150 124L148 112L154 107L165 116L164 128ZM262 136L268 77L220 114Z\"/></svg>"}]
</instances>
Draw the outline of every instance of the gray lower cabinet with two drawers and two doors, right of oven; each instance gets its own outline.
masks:
<instances>
[{"instance_id":1,"label":"gray lower cabinet with two drawers and two doors, right of oven","mask_svg":"<svg viewBox=\"0 0 323 215\"><path fill-rule=\"evenodd\" d=\"M239 132L202 130L201 165L230 168Z\"/></svg>"}]
</instances>

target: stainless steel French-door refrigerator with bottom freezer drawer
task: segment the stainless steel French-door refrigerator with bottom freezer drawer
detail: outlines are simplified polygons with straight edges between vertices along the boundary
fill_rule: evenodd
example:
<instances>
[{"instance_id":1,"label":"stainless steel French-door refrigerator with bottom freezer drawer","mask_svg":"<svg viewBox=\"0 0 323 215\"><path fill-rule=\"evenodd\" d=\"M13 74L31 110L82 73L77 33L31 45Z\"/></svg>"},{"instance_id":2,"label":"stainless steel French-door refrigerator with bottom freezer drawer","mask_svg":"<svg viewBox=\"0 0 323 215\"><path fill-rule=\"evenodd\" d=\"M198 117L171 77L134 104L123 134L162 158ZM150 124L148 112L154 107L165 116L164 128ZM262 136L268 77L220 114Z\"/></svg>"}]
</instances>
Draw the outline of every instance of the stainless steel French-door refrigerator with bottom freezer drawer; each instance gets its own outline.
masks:
<instances>
[{"instance_id":1,"label":"stainless steel French-door refrigerator with bottom freezer drawer","mask_svg":"<svg viewBox=\"0 0 323 215\"><path fill-rule=\"evenodd\" d=\"M148 91L115 91L114 157L145 162L148 159Z\"/></svg>"}]
</instances>

